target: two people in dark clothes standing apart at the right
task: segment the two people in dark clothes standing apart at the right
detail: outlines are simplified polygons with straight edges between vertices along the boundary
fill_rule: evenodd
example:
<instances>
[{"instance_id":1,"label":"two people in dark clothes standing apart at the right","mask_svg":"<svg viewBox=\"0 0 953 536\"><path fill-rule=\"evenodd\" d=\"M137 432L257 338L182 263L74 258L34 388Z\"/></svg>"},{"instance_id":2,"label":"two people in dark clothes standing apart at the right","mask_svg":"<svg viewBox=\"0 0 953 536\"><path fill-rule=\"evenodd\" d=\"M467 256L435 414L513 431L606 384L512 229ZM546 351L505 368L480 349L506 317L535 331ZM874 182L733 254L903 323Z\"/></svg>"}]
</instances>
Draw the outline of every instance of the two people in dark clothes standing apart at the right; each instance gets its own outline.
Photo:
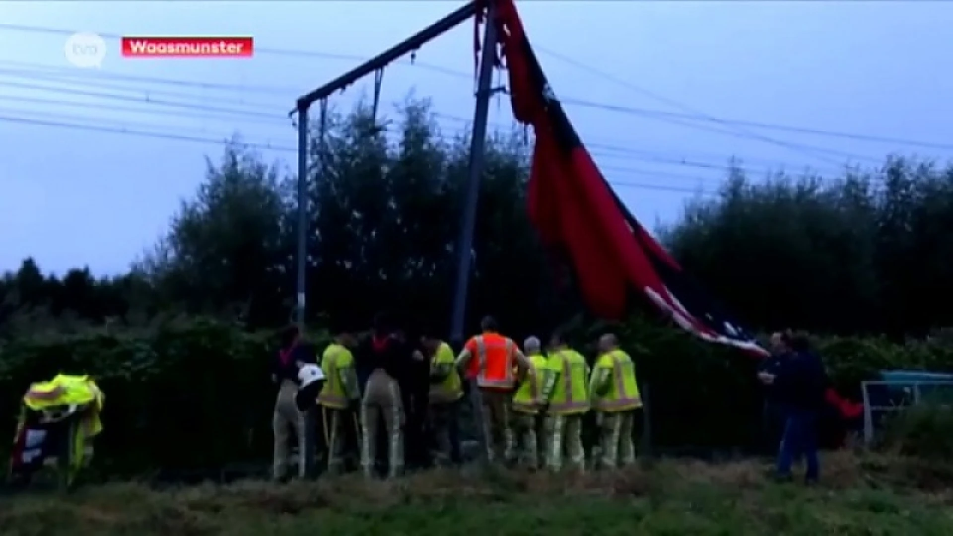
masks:
<instances>
[{"instance_id":1,"label":"two people in dark clothes standing apart at the right","mask_svg":"<svg viewBox=\"0 0 953 536\"><path fill-rule=\"evenodd\" d=\"M803 460L804 480L818 481L818 428L825 404L827 374L805 335L791 331L771 336L771 357L760 366L764 384L764 427L769 448L777 452L776 476L792 478L792 465Z\"/></svg>"}]
</instances>

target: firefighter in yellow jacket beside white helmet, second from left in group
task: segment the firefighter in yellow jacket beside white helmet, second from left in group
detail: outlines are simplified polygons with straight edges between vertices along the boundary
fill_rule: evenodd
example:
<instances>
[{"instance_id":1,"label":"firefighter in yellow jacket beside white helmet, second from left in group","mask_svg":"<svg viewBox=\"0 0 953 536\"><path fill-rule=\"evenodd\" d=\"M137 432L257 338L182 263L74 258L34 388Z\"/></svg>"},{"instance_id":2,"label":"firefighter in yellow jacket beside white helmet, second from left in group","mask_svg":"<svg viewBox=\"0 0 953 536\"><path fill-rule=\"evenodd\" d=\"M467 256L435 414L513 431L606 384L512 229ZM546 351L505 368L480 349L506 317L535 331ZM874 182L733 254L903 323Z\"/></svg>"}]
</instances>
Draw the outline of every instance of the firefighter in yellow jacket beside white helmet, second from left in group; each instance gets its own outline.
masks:
<instances>
[{"instance_id":1,"label":"firefighter in yellow jacket beside white helmet, second from left in group","mask_svg":"<svg viewBox=\"0 0 953 536\"><path fill-rule=\"evenodd\" d=\"M317 403L321 406L329 474L343 471L347 432L353 430L357 422L360 393L355 360L350 350L354 345L354 334L338 333L321 356L321 369L327 380L317 396Z\"/></svg>"}]
</instances>

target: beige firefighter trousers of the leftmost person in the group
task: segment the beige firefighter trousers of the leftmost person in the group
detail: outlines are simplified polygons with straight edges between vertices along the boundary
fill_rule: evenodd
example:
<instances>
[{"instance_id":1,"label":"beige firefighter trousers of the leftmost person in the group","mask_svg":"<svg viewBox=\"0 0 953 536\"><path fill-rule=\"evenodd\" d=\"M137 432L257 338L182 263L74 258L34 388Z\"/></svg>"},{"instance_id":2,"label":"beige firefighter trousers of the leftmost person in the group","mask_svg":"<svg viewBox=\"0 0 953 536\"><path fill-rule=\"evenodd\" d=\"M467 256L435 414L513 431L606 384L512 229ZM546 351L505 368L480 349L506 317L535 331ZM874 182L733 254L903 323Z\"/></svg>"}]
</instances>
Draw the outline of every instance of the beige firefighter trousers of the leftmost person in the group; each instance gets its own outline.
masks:
<instances>
[{"instance_id":1,"label":"beige firefighter trousers of the leftmost person in the group","mask_svg":"<svg viewBox=\"0 0 953 536\"><path fill-rule=\"evenodd\" d=\"M291 464L292 437L297 441L298 477L309 476L314 459L314 423L309 420L311 413L297 409L294 396L298 388L294 381L282 381L278 387L278 396L274 402L272 430L274 431L274 464L272 476L275 480L284 480L288 476Z\"/></svg>"}]
</instances>

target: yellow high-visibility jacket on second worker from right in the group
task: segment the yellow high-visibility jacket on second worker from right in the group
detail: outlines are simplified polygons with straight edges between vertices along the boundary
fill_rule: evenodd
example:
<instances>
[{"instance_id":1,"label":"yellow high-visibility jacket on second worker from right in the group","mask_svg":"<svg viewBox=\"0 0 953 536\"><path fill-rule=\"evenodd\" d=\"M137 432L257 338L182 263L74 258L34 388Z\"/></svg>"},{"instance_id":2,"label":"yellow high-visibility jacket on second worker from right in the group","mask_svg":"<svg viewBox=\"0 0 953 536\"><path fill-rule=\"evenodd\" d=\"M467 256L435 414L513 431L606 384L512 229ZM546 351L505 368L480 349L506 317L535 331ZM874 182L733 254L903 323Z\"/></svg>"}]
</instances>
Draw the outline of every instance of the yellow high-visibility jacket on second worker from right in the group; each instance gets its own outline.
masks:
<instances>
[{"instance_id":1,"label":"yellow high-visibility jacket on second worker from right in the group","mask_svg":"<svg viewBox=\"0 0 953 536\"><path fill-rule=\"evenodd\" d=\"M543 399L553 415L573 415L589 411L589 364L576 350L551 352L546 361L549 375Z\"/></svg>"}]
</instances>

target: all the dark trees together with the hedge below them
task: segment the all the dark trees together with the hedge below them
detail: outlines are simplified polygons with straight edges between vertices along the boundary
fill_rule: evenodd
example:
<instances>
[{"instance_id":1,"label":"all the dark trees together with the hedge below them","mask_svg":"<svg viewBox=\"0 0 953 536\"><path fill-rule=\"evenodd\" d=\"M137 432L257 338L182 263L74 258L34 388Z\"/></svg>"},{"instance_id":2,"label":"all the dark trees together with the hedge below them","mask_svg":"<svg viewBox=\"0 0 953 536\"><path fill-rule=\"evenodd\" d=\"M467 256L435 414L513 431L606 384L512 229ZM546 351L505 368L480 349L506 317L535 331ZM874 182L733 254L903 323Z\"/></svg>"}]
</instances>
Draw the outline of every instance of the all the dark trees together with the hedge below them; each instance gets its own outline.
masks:
<instances>
[{"instance_id":1,"label":"all the dark trees together with the hedge below them","mask_svg":"<svg viewBox=\"0 0 953 536\"><path fill-rule=\"evenodd\" d=\"M426 100L407 102L386 130L379 122L358 105L331 114L324 144L313 137L307 312L318 343L328 319L361 325L382 308L449 328L469 139L442 132ZM494 314L515 338L572 319L585 349L597 324L527 220L530 149L522 132L488 140L469 318ZM263 358L293 313L294 193L293 175L236 139L127 273L56 277L27 258L0 277L0 432L30 381L89 373L108 396L111 474L267 456L274 386ZM717 196L688 200L658 236L753 330L826 335L832 380L859 400L860 381L885 368L953 369L950 231L953 167L887 157L841 176L761 180L731 167ZM651 385L654 447L757 443L755 362L651 317L615 329Z\"/></svg>"}]
</instances>

